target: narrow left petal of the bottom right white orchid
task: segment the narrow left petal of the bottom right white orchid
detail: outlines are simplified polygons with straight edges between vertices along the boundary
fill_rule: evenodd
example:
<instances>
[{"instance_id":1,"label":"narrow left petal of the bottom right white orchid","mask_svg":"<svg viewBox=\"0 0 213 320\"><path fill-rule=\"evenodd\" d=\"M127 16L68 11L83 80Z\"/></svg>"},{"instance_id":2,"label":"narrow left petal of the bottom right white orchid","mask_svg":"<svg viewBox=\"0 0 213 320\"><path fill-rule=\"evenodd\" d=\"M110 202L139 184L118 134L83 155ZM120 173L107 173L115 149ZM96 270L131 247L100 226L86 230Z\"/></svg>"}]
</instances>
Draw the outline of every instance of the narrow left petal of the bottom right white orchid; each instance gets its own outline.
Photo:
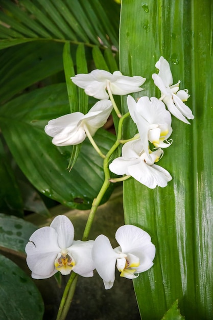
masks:
<instances>
[{"instance_id":1,"label":"narrow left petal of the bottom right white orchid","mask_svg":"<svg viewBox=\"0 0 213 320\"><path fill-rule=\"evenodd\" d=\"M100 235L94 240L92 247L92 260L99 273L100 277L104 280L105 288L112 287L115 279L115 263L119 258L110 244L109 239Z\"/></svg>"}]
</instances>

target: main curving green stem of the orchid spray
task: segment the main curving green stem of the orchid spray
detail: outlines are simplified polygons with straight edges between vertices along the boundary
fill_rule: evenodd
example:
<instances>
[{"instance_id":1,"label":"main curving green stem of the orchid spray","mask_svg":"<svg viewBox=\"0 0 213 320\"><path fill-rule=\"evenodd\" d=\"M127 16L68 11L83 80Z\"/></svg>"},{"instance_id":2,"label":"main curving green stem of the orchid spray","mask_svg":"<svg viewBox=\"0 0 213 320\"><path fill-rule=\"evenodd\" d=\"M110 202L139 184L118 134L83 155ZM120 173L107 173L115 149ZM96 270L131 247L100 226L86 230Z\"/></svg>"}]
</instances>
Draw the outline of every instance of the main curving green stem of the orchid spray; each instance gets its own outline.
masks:
<instances>
[{"instance_id":1,"label":"main curving green stem of the orchid spray","mask_svg":"<svg viewBox=\"0 0 213 320\"><path fill-rule=\"evenodd\" d=\"M100 190L97 198L94 198L94 200L92 202L92 207L91 207L91 210L90 210L90 213L89 213L89 216L87 219L87 223L86 223L86 226L84 229L84 234L82 237L83 241L86 241L88 239L89 232L90 232L91 226L92 226L92 222L94 220L94 216L96 215L99 204L100 204L106 190L108 189L108 187L110 185L109 159L110 159L112 153L120 145L120 140L122 138L123 122L128 116L129 116L129 112L127 112L123 117L120 118L119 127L118 127L118 131L117 131L117 140L115 141L115 143L113 144L111 149L107 152L107 154L104 158L103 169L104 169L105 179L104 179L103 185L101 187L101 190ZM56 320L64 320L66 318L67 312L69 310L69 306L72 302L73 295L75 293L77 280L78 280L78 277L77 277L76 273L72 272L72 274L66 284Z\"/></svg>"}]
</instances>

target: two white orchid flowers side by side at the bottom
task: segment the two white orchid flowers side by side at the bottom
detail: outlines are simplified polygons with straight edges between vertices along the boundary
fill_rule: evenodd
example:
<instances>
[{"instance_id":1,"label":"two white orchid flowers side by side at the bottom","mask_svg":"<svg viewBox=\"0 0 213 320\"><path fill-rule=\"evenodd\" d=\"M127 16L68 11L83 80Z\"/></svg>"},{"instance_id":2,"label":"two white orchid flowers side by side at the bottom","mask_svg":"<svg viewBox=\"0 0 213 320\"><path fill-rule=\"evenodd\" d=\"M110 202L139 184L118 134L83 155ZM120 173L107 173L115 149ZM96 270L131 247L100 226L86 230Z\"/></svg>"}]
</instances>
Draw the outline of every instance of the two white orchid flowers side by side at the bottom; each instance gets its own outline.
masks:
<instances>
[{"instance_id":1,"label":"two white orchid flowers side by side at the bottom","mask_svg":"<svg viewBox=\"0 0 213 320\"><path fill-rule=\"evenodd\" d=\"M147 232L134 225L123 225L115 239L120 244L115 249L104 235L94 241L75 241L72 222L66 216L57 216L50 226L36 230L26 245L32 278L50 278L58 271L68 275L72 270L83 277L92 277L96 268L105 288L110 289L115 265L121 277L128 279L151 268L155 246Z\"/></svg>"}]
</instances>

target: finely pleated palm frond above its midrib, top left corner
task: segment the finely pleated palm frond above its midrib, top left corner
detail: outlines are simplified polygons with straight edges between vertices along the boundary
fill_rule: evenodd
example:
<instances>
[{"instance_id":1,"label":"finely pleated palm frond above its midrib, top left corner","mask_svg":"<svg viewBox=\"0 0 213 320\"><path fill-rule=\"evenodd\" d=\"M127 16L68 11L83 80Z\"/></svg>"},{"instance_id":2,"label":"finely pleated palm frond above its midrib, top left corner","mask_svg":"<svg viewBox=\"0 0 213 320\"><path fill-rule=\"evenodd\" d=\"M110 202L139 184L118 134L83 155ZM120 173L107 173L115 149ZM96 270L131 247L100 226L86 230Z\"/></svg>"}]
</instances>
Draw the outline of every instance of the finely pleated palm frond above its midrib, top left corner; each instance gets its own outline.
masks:
<instances>
[{"instance_id":1,"label":"finely pleated palm frond above its midrib, top left corner","mask_svg":"<svg viewBox=\"0 0 213 320\"><path fill-rule=\"evenodd\" d=\"M0 49L33 39L118 47L120 6L113 0L0 0L0 5Z\"/></svg>"}]
</instances>

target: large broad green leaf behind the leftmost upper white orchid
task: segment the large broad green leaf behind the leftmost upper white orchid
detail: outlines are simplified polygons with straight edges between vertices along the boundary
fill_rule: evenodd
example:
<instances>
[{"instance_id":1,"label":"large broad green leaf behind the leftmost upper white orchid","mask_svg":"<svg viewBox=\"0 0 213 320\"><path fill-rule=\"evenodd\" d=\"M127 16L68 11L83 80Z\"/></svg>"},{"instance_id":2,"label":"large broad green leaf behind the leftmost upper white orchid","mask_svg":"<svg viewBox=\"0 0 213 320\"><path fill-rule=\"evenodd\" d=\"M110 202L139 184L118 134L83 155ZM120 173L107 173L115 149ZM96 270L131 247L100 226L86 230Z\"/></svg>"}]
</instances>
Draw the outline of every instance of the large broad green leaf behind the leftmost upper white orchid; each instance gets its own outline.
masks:
<instances>
[{"instance_id":1,"label":"large broad green leaf behind the leftmost upper white orchid","mask_svg":"<svg viewBox=\"0 0 213 320\"><path fill-rule=\"evenodd\" d=\"M70 207L88 209L103 183L103 159L86 139L74 169L68 172L72 147L54 146L44 132L49 120L66 113L66 85L47 86L2 106L1 128L18 166L40 192ZM115 139L102 129L94 140L106 153Z\"/></svg>"}]
</instances>

